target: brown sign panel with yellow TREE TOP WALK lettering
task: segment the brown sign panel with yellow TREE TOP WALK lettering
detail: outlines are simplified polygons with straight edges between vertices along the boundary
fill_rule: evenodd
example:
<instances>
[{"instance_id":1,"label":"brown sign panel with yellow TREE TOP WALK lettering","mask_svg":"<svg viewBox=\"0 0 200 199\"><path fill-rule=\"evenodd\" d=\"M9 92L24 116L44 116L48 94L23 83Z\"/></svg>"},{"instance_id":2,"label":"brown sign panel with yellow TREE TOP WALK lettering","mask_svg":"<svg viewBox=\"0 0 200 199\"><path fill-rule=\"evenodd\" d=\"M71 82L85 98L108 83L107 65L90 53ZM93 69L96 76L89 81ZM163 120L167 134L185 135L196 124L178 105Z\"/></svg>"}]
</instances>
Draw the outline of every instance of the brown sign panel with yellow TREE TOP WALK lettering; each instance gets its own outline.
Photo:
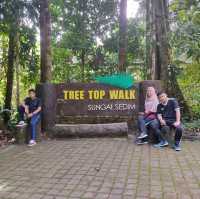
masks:
<instances>
[{"instance_id":1,"label":"brown sign panel with yellow TREE TOP WALK lettering","mask_svg":"<svg viewBox=\"0 0 200 199\"><path fill-rule=\"evenodd\" d=\"M104 84L57 84L56 117L131 116L137 112L136 87L119 89Z\"/></svg>"}]
</instances>

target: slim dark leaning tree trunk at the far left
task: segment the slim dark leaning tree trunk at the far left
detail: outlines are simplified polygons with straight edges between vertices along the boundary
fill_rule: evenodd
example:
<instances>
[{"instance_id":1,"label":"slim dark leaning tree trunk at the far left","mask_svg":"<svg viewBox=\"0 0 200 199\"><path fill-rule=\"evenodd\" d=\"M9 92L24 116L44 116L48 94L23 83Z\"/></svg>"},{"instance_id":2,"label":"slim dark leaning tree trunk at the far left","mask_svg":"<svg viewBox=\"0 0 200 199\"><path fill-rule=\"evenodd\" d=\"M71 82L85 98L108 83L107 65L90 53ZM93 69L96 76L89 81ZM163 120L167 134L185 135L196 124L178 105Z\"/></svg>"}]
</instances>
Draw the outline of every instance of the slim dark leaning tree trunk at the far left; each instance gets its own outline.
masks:
<instances>
[{"instance_id":1,"label":"slim dark leaning tree trunk at the far left","mask_svg":"<svg viewBox=\"0 0 200 199\"><path fill-rule=\"evenodd\" d=\"M5 108L11 109L12 103L12 92L13 92L13 79L14 79L14 60L15 60L15 43L16 34L12 29L9 33L9 44L8 44L8 65L6 73L6 92L5 92Z\"/></svg>"}]
</instances>

